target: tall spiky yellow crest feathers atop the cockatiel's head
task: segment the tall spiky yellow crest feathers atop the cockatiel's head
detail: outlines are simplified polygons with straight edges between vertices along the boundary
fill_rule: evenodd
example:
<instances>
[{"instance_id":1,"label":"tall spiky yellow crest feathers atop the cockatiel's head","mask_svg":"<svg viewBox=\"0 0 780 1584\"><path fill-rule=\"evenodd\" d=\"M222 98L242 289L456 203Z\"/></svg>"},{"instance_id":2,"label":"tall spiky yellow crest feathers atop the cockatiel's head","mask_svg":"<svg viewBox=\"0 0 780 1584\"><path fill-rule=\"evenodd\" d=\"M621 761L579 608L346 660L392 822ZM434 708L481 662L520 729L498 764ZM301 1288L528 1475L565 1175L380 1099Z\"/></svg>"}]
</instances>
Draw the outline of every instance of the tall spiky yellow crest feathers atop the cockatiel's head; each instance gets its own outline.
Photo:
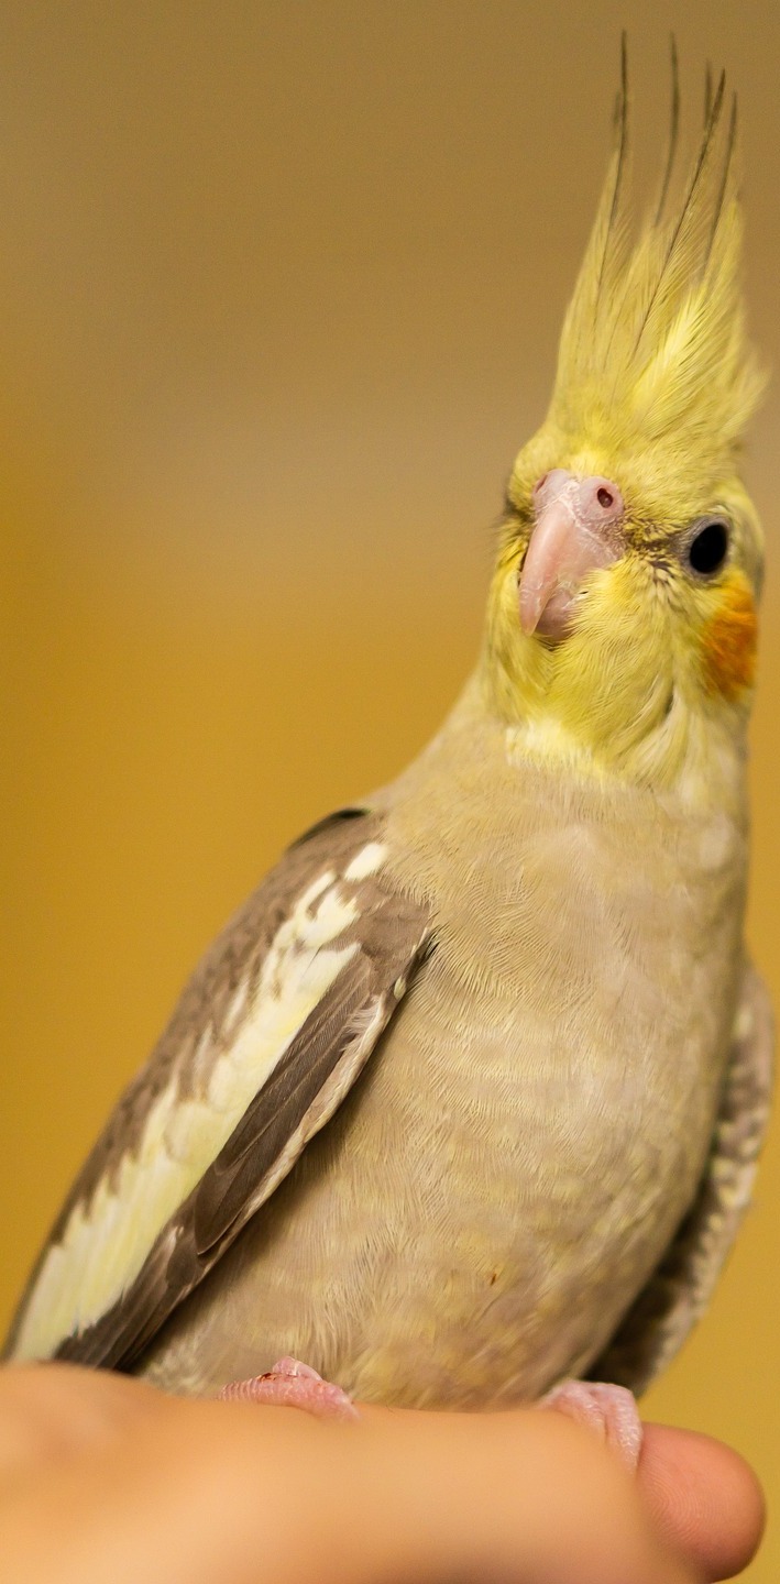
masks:
<instances>
[{"instance_id":1,"label":"tall spiky yellow crest feathers atop the cockatiel's head","mask_svg":"<svg viewBox=\"0 0 780 1584\"><path fill-rule=\"evenodd\" d=\"M736 98L725 76L682 196L669 204L679 89L660 198L634 234L626 49L615 147L566 314L547 423L572 444L640 450L674 440L693 469L732 466L764 379L745 334ZM669 212L671 211L671 212Z\"/></svg>"}]
</instances>

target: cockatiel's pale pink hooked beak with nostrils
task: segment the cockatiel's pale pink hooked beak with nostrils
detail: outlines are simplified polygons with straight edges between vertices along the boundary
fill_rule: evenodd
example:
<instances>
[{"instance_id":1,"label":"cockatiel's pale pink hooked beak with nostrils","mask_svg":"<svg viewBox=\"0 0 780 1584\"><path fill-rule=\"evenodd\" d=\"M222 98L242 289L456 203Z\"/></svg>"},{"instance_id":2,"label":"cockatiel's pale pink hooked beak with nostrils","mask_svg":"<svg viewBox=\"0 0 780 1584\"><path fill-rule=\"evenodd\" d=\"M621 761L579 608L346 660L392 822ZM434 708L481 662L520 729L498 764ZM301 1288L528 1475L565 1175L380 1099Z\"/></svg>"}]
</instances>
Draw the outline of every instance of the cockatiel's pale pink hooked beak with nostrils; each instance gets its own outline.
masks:
<instances>
[{"instance_id":1,"label":"cockatiel's pale pink hooked beak with nostrils","mask_svg":"<svg viewBox=\"0 0 780 1584\"><path fill-rule=\"evenodd\" d=\"M534 488L534 516L520 573L520 626L563 638L582 580L625 551L623 497L609 478L555 467Z\"/></svg>"}]
</instances>

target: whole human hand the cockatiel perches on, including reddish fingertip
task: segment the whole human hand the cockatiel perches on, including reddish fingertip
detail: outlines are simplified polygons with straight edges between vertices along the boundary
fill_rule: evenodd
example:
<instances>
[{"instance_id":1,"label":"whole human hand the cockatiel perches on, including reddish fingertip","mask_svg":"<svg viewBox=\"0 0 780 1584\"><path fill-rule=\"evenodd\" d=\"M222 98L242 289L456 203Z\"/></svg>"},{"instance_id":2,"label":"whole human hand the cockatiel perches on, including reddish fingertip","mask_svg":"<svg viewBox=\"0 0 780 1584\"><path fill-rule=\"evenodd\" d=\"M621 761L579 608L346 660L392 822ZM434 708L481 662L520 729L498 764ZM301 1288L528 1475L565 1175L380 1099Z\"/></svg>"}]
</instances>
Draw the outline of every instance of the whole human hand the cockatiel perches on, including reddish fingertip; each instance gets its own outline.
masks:
<instances>
[{"instance_id":1,"label":"whole human hand the cockatiel perches on, including reddish fingertip","mask_svg":"<svg viewBox=\"0 0 780 1584\"><path fill-rule=\"evenodd\" d=\"M193 1402L0 1372L0 1579L685 1584L731 1578L763 1500L736 1453L647 1426L633 1478L558 1413Z\"/></svg>"}]
</instances>

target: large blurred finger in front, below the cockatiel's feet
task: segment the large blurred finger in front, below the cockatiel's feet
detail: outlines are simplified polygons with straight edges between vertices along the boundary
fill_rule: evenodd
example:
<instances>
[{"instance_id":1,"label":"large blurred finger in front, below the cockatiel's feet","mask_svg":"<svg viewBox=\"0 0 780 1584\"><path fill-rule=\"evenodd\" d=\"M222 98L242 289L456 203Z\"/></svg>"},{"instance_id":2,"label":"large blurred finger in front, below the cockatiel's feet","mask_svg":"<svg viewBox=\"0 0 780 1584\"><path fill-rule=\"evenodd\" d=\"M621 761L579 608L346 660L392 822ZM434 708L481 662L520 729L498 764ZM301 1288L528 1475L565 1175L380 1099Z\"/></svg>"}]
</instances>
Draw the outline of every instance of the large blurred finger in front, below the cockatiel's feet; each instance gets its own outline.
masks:
<instances>
[{"instance_id":1,"label":"large blurred finger in front, below the cockatiel's feet","mask_svg":"<svg viewBox=\"0 0 780 1584\"><path fill-rule=\"evenodd\" d=\"M25 1584L688 1584L636 1481L563 1419L159 1403L27 1481L0 1524Z\"/></svg>"}]
</instances>

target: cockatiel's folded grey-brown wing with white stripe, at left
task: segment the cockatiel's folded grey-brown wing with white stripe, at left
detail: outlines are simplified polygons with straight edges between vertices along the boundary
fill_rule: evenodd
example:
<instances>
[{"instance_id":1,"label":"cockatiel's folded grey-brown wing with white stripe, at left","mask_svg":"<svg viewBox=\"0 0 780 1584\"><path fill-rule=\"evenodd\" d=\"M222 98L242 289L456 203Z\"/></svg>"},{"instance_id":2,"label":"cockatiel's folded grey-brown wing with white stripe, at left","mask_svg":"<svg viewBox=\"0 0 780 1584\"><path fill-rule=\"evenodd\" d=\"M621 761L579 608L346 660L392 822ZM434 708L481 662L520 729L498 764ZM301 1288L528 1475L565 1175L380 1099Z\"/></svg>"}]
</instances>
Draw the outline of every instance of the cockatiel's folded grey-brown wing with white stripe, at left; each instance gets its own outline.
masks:
<instances>
[{"instance_id":1,"label":"cockatiel's folded grey-brown wing with white stripe, at left","mask_svg":"<svg viewBox=\"0 0 780 1584\"><path fill-rule=\"evenodd\" d=\"M6 1356L128 1367L333 1115L428 947L346 809L206 954L38 1259Z\"/></svg>"}]
</instances>

